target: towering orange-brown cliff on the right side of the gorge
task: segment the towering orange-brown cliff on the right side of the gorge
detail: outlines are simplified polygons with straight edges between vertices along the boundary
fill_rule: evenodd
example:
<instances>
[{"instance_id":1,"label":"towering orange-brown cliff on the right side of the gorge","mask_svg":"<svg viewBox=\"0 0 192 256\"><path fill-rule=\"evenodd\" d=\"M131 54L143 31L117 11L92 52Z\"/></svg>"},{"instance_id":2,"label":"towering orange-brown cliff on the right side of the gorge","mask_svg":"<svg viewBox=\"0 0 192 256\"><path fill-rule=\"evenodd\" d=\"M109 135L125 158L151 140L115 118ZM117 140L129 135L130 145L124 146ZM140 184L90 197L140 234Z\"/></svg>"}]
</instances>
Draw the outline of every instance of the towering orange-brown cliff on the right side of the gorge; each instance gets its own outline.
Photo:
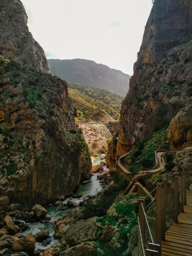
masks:
<instances>
[{"instance_id":1,"label":"towering orange-brown cliff on the right side of the gorge","mask_svg":"<svg viewBox=\"0 0 192 256\"><path fill-rule=\"evenodd\" d=\"M125 97L120 133L134 133L121 139L117 153L135 148L150 131L168 124L192 96L192 2L155 0L151 10L130 89ZM135 119L130 132L127 118ZM131 127L131 125L130 125ZM125 136L124 136L125 137Z\"/></svg>"}]
</instances>

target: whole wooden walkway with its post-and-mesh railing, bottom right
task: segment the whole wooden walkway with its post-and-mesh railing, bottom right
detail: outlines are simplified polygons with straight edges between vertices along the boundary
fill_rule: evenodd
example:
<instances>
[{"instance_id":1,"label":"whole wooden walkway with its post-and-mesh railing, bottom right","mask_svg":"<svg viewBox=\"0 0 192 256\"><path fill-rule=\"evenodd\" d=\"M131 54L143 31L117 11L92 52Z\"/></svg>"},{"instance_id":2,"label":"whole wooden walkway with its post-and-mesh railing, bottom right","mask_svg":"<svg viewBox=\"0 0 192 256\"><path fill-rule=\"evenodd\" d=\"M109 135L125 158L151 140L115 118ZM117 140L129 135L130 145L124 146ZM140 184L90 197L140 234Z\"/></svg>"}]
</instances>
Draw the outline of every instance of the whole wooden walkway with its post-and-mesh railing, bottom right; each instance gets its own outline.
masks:
<instances>
[{"instance_id":1,"label":"whole wooden walkway with its post-and-mesh railing, bottom right","mask_svg":"<svg viewBox=\"0 0 192 256\"><path fill-rule=\"evenodd\" d=\"M181 176L175 177L175 182L169 188L167 180L157 183L156 196L147 207L145 207L147 196L140 197L139 256L192 256L190 168L191 166L188 166L182 171Z\"/></svg>"}]
</instances>

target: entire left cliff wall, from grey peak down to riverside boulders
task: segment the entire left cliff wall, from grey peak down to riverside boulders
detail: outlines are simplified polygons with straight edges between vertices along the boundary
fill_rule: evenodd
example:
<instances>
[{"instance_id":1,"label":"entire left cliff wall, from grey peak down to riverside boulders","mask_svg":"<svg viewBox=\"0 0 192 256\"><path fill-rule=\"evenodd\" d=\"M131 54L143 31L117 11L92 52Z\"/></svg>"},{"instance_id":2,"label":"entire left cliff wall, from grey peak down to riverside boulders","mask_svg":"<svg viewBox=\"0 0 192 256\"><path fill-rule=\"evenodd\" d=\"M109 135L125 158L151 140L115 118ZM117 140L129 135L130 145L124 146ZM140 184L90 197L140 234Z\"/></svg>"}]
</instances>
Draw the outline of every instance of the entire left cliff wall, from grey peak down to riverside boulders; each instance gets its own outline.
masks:
<instances>
[{"instance_id":1,"label":"entire left cliff wall, from grey peak down to riverside boulders","mask_svg":"<svg viewBox=\"0 0 192 256\"><path fill-rule=\"evenodd\" d=\"M28 32L21 2L3 1L1 8L0 194L13 203L45 204L71 195L89 178L89 148L74 125L68 85L47 74L46 57Z\"/></svg>"}]
</instances>

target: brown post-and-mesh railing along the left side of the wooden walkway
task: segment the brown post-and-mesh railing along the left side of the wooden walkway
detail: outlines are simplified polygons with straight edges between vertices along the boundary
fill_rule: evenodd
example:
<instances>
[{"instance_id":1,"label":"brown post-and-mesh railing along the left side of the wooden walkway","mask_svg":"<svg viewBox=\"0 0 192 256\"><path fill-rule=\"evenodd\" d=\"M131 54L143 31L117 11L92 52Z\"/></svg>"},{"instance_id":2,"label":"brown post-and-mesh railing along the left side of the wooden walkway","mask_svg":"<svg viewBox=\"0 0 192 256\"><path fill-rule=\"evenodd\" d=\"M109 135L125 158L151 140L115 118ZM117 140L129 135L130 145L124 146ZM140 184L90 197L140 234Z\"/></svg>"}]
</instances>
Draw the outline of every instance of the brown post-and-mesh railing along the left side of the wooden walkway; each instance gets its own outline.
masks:
<instances>
[{"instance_id":1,"label":"brown post-and-mesh railing along the left side of the wooden walkway","mask_svg":"<svg viewBox=\"0 0 192 256\"><path fill-rule=\"evenodd\" d=\"M145 207L146 197L139 199L139 242L138 252L141 253L141 244L145 254L139 255L161 255L161 243L165 240L165 232L178 222L178 216L184 212L184 205L187 204L187 190L189 189L189 172L191 165L185 168L181 176L175 176L174 183L168 188L167 180L157 183L156 196L153 201ZM139 251L140 250L140 251Z\"/></svg>"}]
</instances>

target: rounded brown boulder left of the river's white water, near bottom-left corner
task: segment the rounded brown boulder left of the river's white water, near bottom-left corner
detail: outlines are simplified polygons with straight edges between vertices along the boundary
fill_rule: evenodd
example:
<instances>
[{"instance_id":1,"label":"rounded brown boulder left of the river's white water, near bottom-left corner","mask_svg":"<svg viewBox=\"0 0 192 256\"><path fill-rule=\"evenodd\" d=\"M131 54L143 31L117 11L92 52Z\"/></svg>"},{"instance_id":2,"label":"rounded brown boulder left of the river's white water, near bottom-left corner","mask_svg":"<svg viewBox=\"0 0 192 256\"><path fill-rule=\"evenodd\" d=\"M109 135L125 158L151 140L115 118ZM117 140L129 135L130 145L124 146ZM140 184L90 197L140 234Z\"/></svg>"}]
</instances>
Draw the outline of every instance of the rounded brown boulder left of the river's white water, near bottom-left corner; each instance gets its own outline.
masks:
<instances>
[{"instance_id":1,"label":"rounded brown boulder left of the river's white water, near bottom-left corner","mask_svg":"<svg viewBox=\"0 0 192 256\"><path fill-rule=\"evenodd\" d=\"M27 235L24 238L15 240L13 242L12 250L15 252L32 253L35 250L36 239L32 235Z\"/></svg>"}]
</instances>

